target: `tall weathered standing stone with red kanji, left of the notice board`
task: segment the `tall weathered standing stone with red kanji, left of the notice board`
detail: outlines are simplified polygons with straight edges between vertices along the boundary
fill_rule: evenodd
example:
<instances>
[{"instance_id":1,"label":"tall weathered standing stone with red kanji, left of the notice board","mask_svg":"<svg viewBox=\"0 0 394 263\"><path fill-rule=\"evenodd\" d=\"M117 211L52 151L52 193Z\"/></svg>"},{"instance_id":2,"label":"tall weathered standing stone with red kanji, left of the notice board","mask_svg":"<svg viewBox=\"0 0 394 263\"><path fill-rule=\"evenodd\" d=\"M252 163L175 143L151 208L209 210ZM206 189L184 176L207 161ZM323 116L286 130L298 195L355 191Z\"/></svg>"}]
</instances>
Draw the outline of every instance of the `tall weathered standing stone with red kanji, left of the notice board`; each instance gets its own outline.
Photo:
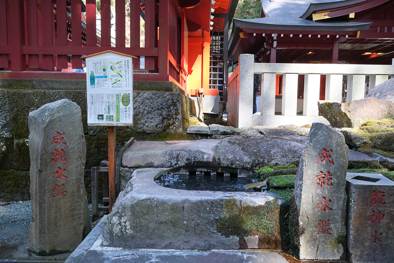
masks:
<instances>
[{"instance_id":1,"label":"tall weathered standing stone with red kanji, left of the notice board","mask_svg":"<svg viewBox=\"0 0 394 263\"><path fill-rule=\"evenodd\" d=\"M29 131L28 249L43 256L72 252L91 230L81 109L66 99L46 104L29 114Z\"/></svg>"}]
</instances>

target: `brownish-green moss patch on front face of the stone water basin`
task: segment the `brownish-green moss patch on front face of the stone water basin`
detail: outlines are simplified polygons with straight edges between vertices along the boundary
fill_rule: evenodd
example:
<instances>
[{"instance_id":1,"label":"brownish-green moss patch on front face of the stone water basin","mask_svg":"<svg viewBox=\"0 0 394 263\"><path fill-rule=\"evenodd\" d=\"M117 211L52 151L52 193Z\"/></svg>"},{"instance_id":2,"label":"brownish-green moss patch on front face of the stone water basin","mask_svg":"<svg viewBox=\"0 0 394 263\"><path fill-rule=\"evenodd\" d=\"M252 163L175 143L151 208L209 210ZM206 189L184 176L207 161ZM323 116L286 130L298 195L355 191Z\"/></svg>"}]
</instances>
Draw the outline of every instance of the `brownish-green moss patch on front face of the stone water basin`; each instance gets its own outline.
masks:
<instances>
[{"instance_id":1,"label":"brownish-green moss patch on front face of the stone water basin","mask_svg":"<svg viewBox=\"0 0 394 263\"><path fill-rule=\"evenodd\" d=\"M279 237L279 202L276 199L259 206L238 206L235 198L225 201L226 215L216 225L226 236L247 236L257 231L263 236Z\"/></svg>"}]
</instances>

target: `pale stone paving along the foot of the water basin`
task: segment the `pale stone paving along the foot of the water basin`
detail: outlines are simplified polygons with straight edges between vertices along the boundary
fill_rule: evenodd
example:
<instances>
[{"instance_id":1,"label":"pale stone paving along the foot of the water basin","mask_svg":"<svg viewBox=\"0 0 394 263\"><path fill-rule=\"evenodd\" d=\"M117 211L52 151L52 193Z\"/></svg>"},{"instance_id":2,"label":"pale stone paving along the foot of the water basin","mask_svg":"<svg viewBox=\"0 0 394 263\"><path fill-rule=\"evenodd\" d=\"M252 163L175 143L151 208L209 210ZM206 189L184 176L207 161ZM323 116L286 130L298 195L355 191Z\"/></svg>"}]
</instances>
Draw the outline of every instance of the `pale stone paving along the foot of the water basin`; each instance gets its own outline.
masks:
<instances>
[{"instance_id":1,"label":"pale stone paving along the foot of the water basin","mask_svg":"<svg viewBox=\"0 0 394 263\"><path fill-rule=\"evenodd\" d=\"M277 251L267 250L159 250L108 247L101 229L106 216L65 263L288 263Z\"/></svg>"}]
</instances>

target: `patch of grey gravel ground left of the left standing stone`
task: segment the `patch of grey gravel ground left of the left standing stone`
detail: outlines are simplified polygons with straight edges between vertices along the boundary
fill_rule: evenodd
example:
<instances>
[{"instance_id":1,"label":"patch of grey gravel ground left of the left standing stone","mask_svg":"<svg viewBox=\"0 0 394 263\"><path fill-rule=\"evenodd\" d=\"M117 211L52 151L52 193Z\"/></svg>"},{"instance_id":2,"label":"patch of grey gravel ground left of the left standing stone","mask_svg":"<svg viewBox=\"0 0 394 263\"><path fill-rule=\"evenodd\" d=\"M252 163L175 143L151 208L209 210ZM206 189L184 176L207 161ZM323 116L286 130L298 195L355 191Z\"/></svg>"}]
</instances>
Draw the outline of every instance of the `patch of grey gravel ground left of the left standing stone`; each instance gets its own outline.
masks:
<instances>
[{"instance_id":1,"label":"patch of grey gravel ground left of the left standing stone","mask_svg":"<svg viewBox=\"0 0 394 263\"><path fill-rule=\"evenodd\" d=\"M31 222L30 201L0 202L0 259L9 258L28 241Z\"/></svg>"}]
</instances>

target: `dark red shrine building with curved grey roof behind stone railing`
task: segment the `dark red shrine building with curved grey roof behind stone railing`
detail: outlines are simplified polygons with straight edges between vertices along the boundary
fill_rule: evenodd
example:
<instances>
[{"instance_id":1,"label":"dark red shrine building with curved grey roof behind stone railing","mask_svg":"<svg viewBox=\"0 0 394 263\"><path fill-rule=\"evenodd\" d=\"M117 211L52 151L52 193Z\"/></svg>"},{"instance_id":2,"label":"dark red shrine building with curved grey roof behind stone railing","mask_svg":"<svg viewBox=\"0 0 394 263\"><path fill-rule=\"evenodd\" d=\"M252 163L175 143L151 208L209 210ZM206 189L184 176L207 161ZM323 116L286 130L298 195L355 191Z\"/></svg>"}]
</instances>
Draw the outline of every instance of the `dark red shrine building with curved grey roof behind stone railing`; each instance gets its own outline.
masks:
<instances>
[{"instance_id":1,"label":"dark red shrine building with curved grey roof behind stone railing","mask_svg":"<svg viewBox=\"0 0 394 263\"><path fill-rule=\"evenodd\" d=\"M261 0L234 19L229 58L261 63L392 64L394 0Z\"/></svg>"}]
</instances>

